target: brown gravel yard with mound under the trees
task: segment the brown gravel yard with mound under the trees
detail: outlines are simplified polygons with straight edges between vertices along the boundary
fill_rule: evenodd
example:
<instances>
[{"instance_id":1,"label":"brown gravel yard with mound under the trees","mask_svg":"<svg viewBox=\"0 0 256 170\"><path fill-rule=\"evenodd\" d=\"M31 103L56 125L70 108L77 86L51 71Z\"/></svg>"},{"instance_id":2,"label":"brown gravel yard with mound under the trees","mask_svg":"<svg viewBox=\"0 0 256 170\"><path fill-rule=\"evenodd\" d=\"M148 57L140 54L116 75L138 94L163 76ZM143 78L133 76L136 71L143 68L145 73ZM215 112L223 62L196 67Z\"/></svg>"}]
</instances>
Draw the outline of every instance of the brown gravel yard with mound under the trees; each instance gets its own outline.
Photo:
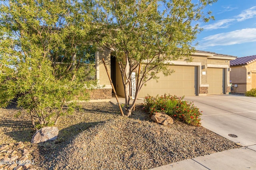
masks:
<instances>
[{"instance_id":1,"label":"brown gravel yard with mound under the trees","mask_svg":"<svg viewBox=\"0 0 256 170\"><path fill-rule=\"evenodd\" d=\"M61 117L56 141L32 145L36 129L23 111L0 109L0 145L24 142L37 169L149 169L236 146L205 129L174 120L163 126L150 121L137 106L131 117L120 116L109 102L84 103Z\"/></svg>"}]
</instances>

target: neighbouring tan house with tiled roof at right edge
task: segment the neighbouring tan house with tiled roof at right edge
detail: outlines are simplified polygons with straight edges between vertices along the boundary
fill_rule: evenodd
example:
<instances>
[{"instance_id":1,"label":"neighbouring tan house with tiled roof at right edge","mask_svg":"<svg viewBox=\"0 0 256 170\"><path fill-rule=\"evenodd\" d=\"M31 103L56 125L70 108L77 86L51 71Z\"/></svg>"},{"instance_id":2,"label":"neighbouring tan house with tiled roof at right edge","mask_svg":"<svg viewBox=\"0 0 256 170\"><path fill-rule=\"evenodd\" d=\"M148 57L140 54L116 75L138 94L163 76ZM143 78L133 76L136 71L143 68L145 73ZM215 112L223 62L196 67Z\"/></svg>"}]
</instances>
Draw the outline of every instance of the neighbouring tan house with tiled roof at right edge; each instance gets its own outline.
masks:
<instances>
[{"instance_id":1,"label":"neighbouring tan house with tiled roof at right edge","mask_svg":"<svg viewBox=\"0 0 256 170\"><path fill-rule=\"evenodd\" d=\"M245 93L256 88L256 55L230 61L232 92Z\"/></svg>"}]
</instances>

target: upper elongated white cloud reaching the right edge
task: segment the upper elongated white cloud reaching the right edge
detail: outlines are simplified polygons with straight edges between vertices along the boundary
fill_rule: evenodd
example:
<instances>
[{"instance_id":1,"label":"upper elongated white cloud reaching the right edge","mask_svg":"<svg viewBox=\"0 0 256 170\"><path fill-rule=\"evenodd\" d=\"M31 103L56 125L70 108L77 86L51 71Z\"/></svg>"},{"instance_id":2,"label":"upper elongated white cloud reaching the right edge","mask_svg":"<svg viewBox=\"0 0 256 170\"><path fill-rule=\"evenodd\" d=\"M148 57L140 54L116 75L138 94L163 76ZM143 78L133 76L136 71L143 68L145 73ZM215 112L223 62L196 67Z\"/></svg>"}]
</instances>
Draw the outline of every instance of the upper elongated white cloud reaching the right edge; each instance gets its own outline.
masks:
<instances>
[{"instance_id":1,"label":"upper elongated white cloud reaching the right edge","mask_svg":"<svg viewBox=\"0 0 256 170\"><path fill-rule=\"evenodd\" d=\"M242 11L241 14L234 16L231 19L219 20L212 24L204 25L202 28L204 28L205 30L228 28L229 25L236 21L241 22L254 17L256 17L256 6L253 6L252 8Z\"/></svg>"}]
</instances>

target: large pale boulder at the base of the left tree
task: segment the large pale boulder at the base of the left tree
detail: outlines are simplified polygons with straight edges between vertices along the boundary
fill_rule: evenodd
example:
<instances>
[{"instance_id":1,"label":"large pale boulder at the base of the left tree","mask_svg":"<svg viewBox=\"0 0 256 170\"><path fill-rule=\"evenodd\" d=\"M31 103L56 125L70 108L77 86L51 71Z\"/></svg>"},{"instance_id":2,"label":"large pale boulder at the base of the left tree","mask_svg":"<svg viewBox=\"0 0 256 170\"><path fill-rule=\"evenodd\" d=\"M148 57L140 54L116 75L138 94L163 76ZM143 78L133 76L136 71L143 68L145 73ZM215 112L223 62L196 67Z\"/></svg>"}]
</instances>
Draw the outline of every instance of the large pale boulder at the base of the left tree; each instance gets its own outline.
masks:
<instances>
[{"instance_id":1,"label":"large pale boulder at the base of the left tree","mask_svg":"<svg viewBox=\"0 0 256 170\"><path fill-rule=\"evenodd\" d=\"M31 143L40 143L45 141L53 141L58 137L58 127L43 127L36 131L31 139Z\"/></svg>"}]
</instances>

